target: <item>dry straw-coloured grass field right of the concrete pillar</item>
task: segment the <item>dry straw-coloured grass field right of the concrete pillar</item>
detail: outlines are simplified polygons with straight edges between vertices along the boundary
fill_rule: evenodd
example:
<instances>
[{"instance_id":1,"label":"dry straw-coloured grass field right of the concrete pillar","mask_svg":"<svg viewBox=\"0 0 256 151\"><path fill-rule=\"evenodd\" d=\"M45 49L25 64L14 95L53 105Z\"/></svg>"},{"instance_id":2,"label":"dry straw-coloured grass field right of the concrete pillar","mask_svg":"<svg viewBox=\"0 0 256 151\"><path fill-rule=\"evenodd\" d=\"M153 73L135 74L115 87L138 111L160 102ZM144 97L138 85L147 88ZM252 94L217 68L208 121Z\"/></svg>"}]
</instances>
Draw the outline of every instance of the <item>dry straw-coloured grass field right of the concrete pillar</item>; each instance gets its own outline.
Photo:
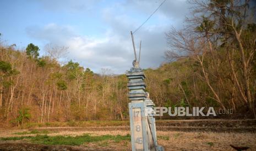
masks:
<instances>
[{"instance_id":1,"label":"dry straw-coloured grass field right of the concrete pillar","mask_svg":"<svg viewBox=\"0 0 256 151\"><path fill-rule=\"evenodd\" d=\"M167 150L232 150L234 146L248 146L256 150L255 133L219 132L157 132L159 136L169 136L169 140L159 140Z\"/></svg>"}]
</instances>

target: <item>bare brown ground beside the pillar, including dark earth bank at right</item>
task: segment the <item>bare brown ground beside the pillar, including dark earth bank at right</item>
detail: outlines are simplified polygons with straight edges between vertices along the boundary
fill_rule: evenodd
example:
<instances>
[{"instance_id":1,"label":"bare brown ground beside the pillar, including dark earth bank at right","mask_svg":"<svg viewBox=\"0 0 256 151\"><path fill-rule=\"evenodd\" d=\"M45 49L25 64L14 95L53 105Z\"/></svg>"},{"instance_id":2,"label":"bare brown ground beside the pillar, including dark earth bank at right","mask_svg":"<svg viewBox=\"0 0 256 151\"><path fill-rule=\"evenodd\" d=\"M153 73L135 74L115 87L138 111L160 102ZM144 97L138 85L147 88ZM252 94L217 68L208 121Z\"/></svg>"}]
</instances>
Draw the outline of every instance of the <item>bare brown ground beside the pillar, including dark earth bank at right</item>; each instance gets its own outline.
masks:
<instances>
[{"instance_id":1,"label":"bare brown ground beside the pillar, including dark earth bank at right","mask_svg":"<svg viewBox=\"0 0 256 151\"><path fill-rule=\"evenodd\" d=\"M256 150L255 120L200 120L172 121L159 124L157 142L166 150L235 150L230 147L246 146L248 150ZM183 123L183 124L182 124ZM192 124L195 123L195 124ZM222 123L222 124L216 124ZM230 124L227 124L230 123ZM181 125L180 125L181 124ZM200 125L203 124L203 125ZM228 126L231 125L231 126ZM166 129L162 129L166 127ZM172 129L170 128L172 127ZM187 129L186 129L187 128ZM215 128L213 130L212 128ZM217 129L219 130L217 130ZM162 130L161 130L162 129ZM248 130L246 130L248 129ZM47 130L48 136L90 135L127 135L128 126L108 127L41 127L34 129L0 129L0 137L35 136L37 134L18 135L17 132L31 130ZM14 134L16 133L16 134ZM0 141L0 150L131 150L130 141L114 142L111 140L84 143L81 146L60 146L32 144L28 140Z\"/></svg>"}]
</instances>

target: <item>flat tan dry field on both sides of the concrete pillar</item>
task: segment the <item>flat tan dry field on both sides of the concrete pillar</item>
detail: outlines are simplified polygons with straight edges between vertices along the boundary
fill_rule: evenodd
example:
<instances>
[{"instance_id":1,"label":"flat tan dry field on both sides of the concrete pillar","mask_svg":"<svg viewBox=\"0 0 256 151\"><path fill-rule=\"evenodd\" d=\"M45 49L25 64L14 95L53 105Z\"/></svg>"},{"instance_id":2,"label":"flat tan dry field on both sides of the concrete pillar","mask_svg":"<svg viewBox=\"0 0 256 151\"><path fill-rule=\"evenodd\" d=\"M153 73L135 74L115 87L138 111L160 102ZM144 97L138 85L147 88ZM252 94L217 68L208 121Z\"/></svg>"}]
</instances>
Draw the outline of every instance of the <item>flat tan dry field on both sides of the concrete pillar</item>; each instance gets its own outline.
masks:
<instances>
[{"instance_id":1,"label":"flat tan dry field on both sides of the concrete pillar","mask_svg":"<svg viewBox=\"0 0 256 151\"><path fill-rule=\"evenodd\" d=\"M1 130L0 137L36 136L39 134L27 133L29 130ZM22 134L24 133L24 134ZM90 136L129 134L127 130L111 131L51 131L48 136ZM43 135L43 134L40 134ZM247 146L248 150L256 150L256 133L253 132L182 132L182 131L157 131L158 143L166 150L235 150L233 146ZM28 140L0 141L0 150L131 150L128 140L115 142L112 140L84 143L80 146L46 146L31 144Z\"/></svg>"}]
</instances>

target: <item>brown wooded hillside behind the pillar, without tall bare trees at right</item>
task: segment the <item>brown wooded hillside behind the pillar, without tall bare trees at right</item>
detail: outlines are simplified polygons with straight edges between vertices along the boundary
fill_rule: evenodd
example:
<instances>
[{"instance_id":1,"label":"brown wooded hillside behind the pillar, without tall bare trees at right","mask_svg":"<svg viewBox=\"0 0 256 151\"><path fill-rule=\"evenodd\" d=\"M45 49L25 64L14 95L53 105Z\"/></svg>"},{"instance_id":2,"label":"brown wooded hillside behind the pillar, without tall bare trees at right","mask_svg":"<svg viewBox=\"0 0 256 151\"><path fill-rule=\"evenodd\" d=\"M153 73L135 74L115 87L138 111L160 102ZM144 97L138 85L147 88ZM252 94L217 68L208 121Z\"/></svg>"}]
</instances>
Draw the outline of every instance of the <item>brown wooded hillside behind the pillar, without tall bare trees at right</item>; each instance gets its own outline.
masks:
<instances>
[{"instance_id":1,"label":"brown wooded hillside behind the pillar, without tall bare trees at right","mask_svg":"<svg viewBox=\"0 0 256 151\"><path fill-rule=\"evenodd\" d=\"M72 60L61 66L50 56L35 56L27 50L15 50L13 46L1 47L0 56L1 120L8 121L7 125L128 118L124 74L95 74ZM222 101L220 104L207 86L200 66L192 59L179 59L144 71L147 90L157 107L206 106L217 110L224 106L233 108L235 117L251 115L244 112L246 104L228 84L231 74L221 73L225 76L222 79L225 85L210 77ZM232 115L227 118L230 117Z\"/></svg>"}]
</instances>

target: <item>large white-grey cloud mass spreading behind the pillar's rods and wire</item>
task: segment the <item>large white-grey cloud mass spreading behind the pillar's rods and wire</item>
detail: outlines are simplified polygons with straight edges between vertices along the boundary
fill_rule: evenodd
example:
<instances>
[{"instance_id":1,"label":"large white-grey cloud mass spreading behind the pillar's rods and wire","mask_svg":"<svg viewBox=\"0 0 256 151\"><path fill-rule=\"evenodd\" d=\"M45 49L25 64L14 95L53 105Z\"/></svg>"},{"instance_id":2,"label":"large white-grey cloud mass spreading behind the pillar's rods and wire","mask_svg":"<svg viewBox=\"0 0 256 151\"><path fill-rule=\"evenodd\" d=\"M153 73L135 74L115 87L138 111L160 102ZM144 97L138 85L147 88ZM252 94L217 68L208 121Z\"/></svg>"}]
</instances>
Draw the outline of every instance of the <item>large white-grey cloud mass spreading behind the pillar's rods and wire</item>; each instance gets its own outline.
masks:
<instances>
[{"instance_id":1,"label":"large white-grey cloud mass spreading behind the pillar's rods and wire","mask_svg":"<svg viewBox=\"0 0 256 151\"><path fill-rule=\"evenodd\" d=\"M157 19L154 24L152 22L145 24L134 35L137 49L139 40L142 40L140 63L142 68L157 67L164 61L165 32L172 24L180 26L180 20L186 13L184 4L183 1L166 1L166 5L155 14ZM78 34L72 26L57 24L29 27L27 33L32 38L68 47L69 59L91 68L94 72L100 73L101 68L107 67L114 73L124 73L132 67L134 59L129 31L138 27L146 19L144 16L148 16L158 5L159 2L134 0L115 3L112 7L105 8L102 10L102 19L109 28L102 34L103 38ZM134 17L134 13L140 14L140 17ZM175 15L178 16L177 19Z\"/></svg>"}]
</instances>

